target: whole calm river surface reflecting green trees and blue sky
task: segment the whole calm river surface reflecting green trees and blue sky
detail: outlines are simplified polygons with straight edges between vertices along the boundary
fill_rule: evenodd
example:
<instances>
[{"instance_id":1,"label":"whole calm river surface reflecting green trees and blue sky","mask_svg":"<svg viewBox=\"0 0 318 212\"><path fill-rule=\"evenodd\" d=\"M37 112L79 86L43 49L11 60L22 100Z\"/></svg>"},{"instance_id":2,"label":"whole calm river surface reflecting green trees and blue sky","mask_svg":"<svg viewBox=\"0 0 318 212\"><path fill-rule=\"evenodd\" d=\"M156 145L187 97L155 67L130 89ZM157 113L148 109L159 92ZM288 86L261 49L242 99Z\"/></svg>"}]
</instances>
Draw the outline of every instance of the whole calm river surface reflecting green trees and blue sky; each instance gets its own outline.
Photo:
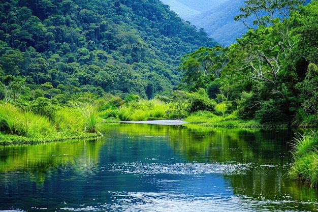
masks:
<instances>
[{"instance_id":1,"label":"whole calm river surface reflecting green trees and blue sky","mask_svg":"<svg viewBox=\"0 0 318 212\"><path fill-rule=\"evenodd\" d=\"M102 139L0 146L0 211L317 211L285 179L291 131L120 124Z\"/></svg>"}]
</instances>

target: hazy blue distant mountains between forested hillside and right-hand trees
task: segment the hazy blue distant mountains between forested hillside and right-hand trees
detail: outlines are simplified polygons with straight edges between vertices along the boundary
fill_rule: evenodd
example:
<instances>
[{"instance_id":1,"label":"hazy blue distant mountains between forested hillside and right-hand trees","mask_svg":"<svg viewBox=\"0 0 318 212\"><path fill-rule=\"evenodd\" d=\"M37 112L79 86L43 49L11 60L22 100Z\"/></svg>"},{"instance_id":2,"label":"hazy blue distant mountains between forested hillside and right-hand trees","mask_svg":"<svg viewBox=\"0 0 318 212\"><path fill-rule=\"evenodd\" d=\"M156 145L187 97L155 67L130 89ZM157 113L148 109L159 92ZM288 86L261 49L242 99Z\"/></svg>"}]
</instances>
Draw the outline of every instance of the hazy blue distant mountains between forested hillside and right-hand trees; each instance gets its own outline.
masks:
<instances>
[{"instance_id":1,"label":"hazy blue distant mountains between forested hillside and right-hand trees","mask_svg":"<svg viewBox=\"0 0 318 212\"><path fill-rule=\"evenodd\" d=\"M181 18L190 21L197 28L204 28L209 37L215 39L222 46L229 46L247 32L247 27L234 17L240 14L240 7L245 0L223 1L193 1L193 0L162 0L168 4ZM306 0L309 3L310 0ZM182 3L188 8L201 11L200 14L185 14L175 7L174 3ZM249 20L251 21L251 19Z\"/></svg>"}]
</instances>

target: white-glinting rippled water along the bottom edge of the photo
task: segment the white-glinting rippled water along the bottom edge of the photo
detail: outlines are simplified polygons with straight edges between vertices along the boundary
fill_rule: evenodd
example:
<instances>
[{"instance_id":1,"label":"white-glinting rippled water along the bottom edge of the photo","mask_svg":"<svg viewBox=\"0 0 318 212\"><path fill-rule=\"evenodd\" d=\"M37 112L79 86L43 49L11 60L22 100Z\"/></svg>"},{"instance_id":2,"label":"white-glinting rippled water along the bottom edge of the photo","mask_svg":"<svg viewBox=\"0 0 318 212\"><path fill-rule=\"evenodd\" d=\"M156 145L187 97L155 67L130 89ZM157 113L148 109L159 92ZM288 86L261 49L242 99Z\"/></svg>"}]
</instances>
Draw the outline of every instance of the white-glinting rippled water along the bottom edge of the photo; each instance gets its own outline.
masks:
<instances>
[{"instance_id":1,"label":"white-glinting rippled water along the bottom edge of the photo","mask_svg":"<svg viewBox=\"0 0 318 212\"><path fill-rule=\"evenodd\" d=\"M194 196L179 192L112 192L113 204L100 204L99 207L60 208L68 211L112 211L112 212L234 212L234 211L300 211L295 207L287 209L283 201L257 200L246 196L221 195ZM296 210L295 210L296 209Z\"/></svg>"}]
</instances>

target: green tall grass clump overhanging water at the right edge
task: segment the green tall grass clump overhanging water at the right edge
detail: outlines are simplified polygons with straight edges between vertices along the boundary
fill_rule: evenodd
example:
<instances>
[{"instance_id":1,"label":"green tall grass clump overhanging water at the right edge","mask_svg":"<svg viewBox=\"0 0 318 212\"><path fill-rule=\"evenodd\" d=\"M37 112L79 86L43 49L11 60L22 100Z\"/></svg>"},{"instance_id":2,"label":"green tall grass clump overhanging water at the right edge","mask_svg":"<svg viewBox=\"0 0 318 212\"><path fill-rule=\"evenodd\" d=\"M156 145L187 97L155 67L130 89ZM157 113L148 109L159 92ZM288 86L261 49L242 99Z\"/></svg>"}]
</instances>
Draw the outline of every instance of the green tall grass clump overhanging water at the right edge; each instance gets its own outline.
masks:
<instances>
[{"instance_id":1,"label":"green tall grass clump overhanging water at the right edge","mask_svg":"<svg viewBox=\"0 0 318 212\"><path fill-rule=\"evenodd\" d=\"M318 135L316 132L305 132L291 143L293 165L289 170L289 177L298 179L312 187L318 185Z\"/></svg>"}]
</instances>

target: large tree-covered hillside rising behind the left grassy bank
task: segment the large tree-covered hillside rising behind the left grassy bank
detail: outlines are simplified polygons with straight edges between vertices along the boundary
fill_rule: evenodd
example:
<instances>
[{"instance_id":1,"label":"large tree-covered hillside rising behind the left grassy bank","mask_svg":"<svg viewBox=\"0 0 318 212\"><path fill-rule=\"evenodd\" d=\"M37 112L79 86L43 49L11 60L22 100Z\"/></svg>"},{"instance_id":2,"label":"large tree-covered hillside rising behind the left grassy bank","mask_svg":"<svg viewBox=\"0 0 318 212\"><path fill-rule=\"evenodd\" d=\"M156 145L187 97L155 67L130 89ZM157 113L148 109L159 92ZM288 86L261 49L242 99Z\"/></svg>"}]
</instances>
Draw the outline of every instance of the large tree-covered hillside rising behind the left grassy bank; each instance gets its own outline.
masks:
<instances>
[{"instance_id":1,"label":"large tree-covered hillside rising behind the left grassy bank","mask_svg":"<svg viewBox=\"0 0 318 212\"><path fill-rule=\"evenodd\" d=\"M216 42L158 0L0 5L0 98L169 95L182 55Z\"/></svg>"}]
</instances>

